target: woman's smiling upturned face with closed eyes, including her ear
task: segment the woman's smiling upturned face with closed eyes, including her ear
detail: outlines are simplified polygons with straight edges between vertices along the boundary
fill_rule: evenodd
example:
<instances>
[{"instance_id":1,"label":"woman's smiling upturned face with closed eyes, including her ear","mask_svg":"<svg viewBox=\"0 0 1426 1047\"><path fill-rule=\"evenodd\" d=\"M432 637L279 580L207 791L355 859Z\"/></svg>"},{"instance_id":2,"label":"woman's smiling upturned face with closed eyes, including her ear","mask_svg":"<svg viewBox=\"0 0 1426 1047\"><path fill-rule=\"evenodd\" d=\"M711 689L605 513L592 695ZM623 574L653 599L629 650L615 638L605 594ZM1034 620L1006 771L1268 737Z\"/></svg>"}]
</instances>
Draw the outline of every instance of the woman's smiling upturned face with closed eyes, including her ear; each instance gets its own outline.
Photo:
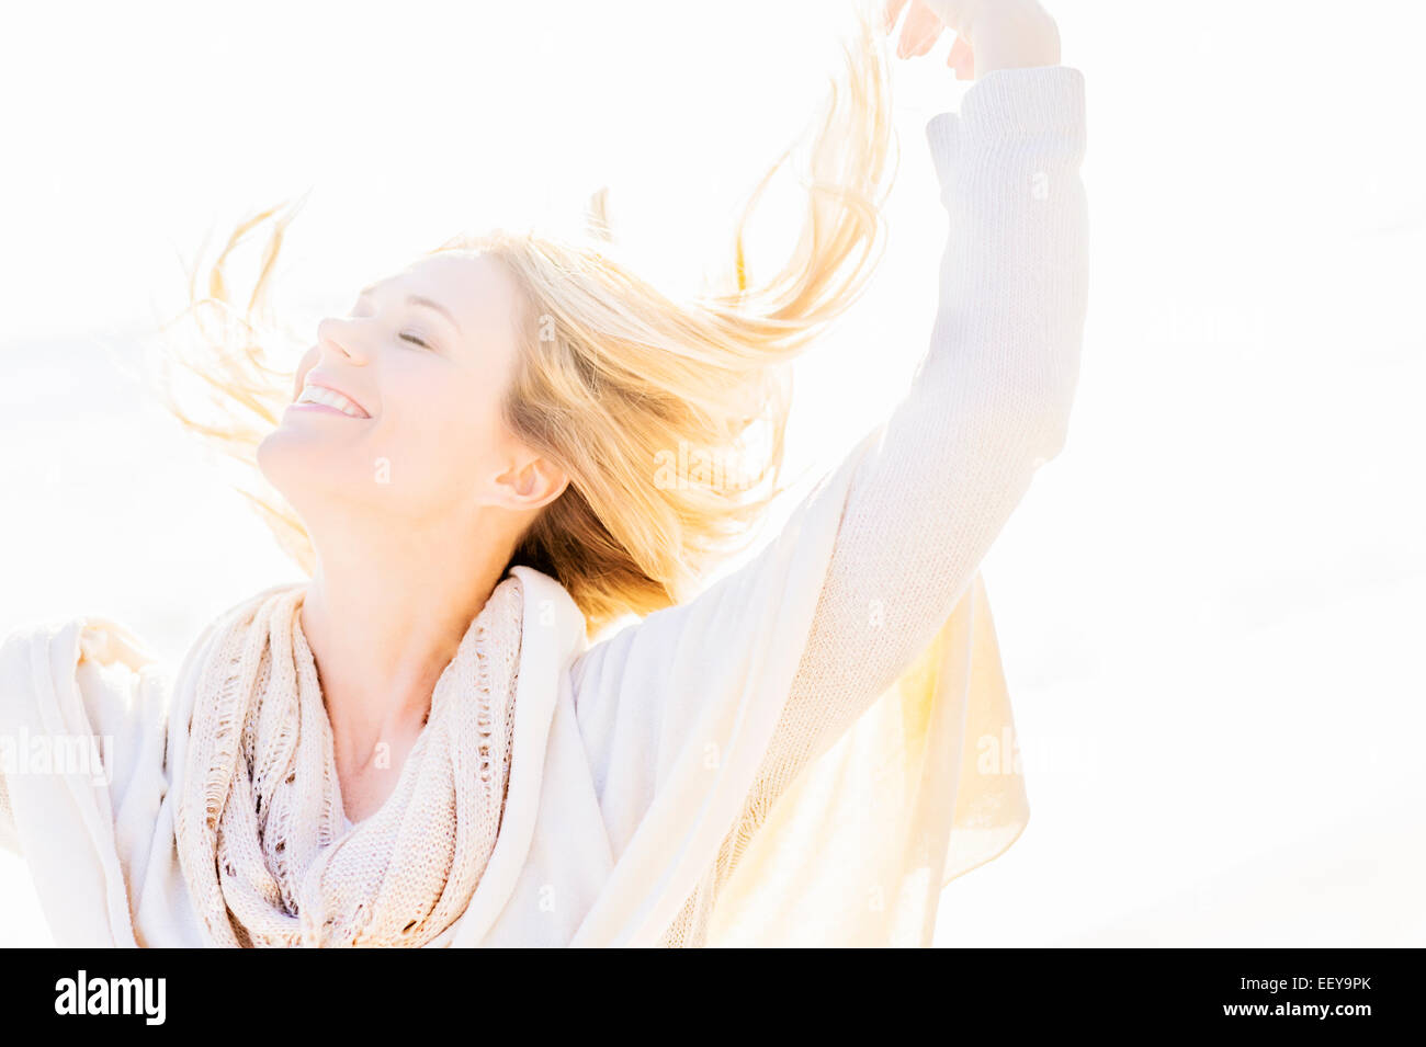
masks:
<instances>
[{"instance_id":1,"label":"woman's smiling upturned face with closed eyes, including her ear","mask_svg":"<svg viewBox=\"0 0 1426 1047\"><path fill-rule=\"evenodd\" d=\"M334 507L414 528L528 514L562 474L509 430L518 289L489 256L428 255L325 318L258 466L305 523ZM314 536L315 537L315 536Z\"/></svg>"}]
</instances>

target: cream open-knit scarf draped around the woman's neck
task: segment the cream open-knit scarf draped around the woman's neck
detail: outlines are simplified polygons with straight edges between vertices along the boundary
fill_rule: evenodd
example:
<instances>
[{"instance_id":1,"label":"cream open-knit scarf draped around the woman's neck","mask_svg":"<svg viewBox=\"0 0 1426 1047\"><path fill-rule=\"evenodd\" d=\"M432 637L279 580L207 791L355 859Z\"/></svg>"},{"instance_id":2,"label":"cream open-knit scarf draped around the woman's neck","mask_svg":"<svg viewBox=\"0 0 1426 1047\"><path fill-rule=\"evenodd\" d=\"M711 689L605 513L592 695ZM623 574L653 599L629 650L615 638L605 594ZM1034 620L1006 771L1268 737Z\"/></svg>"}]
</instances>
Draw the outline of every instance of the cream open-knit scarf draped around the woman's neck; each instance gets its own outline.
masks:
<instances>
[{"instance_id":1,"label":"cream open-knit scarf draped around the woman's neck","mask_svg":"<svg viewBox=\"0 0 1426 1047\"><path fill-rule=\"evenodd\" d=\"M436 682L395 791L352 829L298 615L305 593L240 604L191 677L183 875L217 944L421 946L465 912L501 828L520 583L496 585Z\"/></svg>"}]
</instances>

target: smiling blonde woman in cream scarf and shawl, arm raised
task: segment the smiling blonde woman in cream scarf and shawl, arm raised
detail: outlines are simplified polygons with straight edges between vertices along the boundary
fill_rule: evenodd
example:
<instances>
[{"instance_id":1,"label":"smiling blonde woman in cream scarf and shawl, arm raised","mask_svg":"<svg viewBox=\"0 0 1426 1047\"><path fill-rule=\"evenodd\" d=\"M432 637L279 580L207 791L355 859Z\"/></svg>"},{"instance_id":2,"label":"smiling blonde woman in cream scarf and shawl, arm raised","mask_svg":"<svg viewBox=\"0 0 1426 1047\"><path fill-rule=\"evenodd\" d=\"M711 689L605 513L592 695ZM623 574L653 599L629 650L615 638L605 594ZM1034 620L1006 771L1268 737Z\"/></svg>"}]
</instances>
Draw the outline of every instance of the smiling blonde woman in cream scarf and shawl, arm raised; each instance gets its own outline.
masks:
<instances>
[{"instance_id":1,"label":"smiling blonde woman in cream scarf and shawl, arm raised","mask_svg":"<svg viewBox=\"0 0 1426 1047\"><path fill-rule=\"evenodd\" d=\"M58 942L928 943L944 880L1024 825L1018 776L973 768L1008 728L977 568L1062 446L1085 305L1082 80L1055 24L915 0L900 53L947 26L978 81L927 125L951 218L931 349L777 540L692 598L770 497L749 481L776 481L779 365L870 274L870 30L766 285L739 252L736 289L676 303L602 249L496 232L324 319L279 417L255 346L208 366L265 424L205 433L251 453L311 578L211 623L173 685L103 620L6 642L0 734L107 742L97 778L0 775L0 839ZM669 473L750 449L736 481Z\"/></svg>"}]
</instances>

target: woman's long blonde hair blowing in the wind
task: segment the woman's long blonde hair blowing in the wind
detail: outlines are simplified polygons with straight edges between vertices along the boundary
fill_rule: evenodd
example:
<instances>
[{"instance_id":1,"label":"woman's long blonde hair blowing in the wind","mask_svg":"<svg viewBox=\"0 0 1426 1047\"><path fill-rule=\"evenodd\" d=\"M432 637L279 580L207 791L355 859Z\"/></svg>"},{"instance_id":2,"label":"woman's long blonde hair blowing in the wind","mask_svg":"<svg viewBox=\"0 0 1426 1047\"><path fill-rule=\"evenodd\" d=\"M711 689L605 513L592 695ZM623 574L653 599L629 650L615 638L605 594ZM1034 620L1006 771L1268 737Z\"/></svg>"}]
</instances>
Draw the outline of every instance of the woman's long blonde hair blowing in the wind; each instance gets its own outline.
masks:
<instances>
[{"instance_id":1,"label":"woman's long blonde hair blowing in the wind","mask_svg":"<svg viewBox=\"0 0 1426 1047\"><path fill-rule=\"evenodd\" d=\"M861 9L843 53L844 74L831 80L800 172L806 214L797 244L766 281L749 281L744 235L796 144L750 194L723 286L687 302L672 301L615 258L602 194L590 205L588 244L496 229L429 252L486 254L515 276L520 345L506 422L570 483L522 536L509 566L556 578L590 635L625 614L645 615L689 595L783 490L786 365L864 291L884 246L880 212L894 178L887 61ZM311 573L305 527L257 473L257 446L291 399L294 370L270 363L265 302L294 217L295 208L278 205L242 222L210 268L204 296L197 266L190 275L183 315L198 322L198 353L175 359L208 387L218 419L185 410L167 379L160 387L185 427L251 467L257 490L242 493ZM261 269L240 305L225 262L264 224ZM670 456L712 462L722 476L660 483L659 463Z\"/></svg>"}]
</instances>

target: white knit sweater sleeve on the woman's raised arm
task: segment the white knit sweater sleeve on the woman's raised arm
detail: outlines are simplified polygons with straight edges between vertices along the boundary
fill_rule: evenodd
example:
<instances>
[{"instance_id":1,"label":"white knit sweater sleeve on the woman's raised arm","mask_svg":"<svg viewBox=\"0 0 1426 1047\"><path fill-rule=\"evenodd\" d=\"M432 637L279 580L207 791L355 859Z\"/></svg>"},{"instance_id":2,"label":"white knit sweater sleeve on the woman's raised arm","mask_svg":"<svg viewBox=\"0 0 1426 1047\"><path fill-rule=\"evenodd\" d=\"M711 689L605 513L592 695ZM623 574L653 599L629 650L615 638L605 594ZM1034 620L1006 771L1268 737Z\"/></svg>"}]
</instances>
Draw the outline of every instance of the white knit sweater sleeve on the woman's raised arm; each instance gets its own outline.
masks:
<instances>
[{"instance_id":1,"label":"white knit sweater sleeve on the woman's raised arm","mask_svg":"<svg viewBox=\"0 0 1426 1047\"><path fill-rule=\"evenodd\" d=\"M927 647L1034 472L1065 439L1087 301L1082 77L1058 66L991 73L965 93L958 114L927 124L927 140L950 218L930 350L880 443L856 466L771 742L743 813L667 924L665 944L704 942L713 900L773 802ZM754 560L740 573L757 570ZM647 772L647 788L630 785L635 735L619 736L617 699L600 708L603 698L580 697L617 695L623 684L612 672L646 687L640 661L655 655L640 644L680 620L699 621L700 600L659 613L662 632L626 628L570 667L596 792L623 782L627 795L649 792L652 803L656 775ZM639 815L606 818L615 858ZM0 845L14 842L0 773Z\"/></svg>"}]
</instances>

